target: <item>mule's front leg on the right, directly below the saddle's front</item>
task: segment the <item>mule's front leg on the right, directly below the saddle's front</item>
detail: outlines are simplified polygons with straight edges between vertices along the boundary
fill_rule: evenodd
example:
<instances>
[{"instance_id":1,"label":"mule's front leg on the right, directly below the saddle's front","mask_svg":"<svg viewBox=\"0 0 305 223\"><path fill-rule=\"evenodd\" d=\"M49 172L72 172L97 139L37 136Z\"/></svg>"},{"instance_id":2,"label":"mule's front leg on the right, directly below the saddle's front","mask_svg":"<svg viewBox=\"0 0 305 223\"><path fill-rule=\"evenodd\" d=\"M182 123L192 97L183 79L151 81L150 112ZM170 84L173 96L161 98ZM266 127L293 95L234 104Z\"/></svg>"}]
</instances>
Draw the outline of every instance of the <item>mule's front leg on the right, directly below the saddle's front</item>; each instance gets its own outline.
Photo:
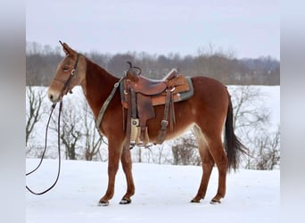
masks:
<instances>
[{"instance_id":1,"label":"mule's front leg on the right, directly below the saddle's front","mask_svg":"<svg viewBox=\"0 0 305 223\"><path fill-rule=\"evenodd\" d=\"M127 192L120 201L120 204L127 204L131 202L130 197L135 194L135 184L134 178L132 177L132 159L130 155L130 149L126 148L126 146L123 147L123 152L121 154L120 161L122 163L128 186Z\"/></svg>"}]
</instances>

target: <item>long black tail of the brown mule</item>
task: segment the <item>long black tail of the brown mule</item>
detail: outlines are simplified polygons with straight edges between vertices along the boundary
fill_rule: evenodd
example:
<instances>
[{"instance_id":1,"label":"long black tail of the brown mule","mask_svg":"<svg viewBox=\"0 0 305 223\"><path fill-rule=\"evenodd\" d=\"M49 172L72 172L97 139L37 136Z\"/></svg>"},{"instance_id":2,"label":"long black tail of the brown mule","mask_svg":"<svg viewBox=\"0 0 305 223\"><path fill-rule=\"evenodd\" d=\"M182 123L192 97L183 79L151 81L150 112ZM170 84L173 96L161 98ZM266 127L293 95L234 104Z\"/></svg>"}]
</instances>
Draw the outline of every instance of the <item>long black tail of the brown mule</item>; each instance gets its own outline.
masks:
<instances>
[{"instance_id":1,"label":"long black tail of the brown mule","mask_svg":"<svg viewBox=\"0 0 305 223\"><path fill-rule=\"evenodd\" d=\"M229 97L229 103L227 107L227 120L225 131L225 149L227 152L228 171L231 169L236 170L240 161L240 154L248 154L248 149L241 143L240 139L235 136L233 127L233 107L231 97Z\"/></svg>"}]
</instances>

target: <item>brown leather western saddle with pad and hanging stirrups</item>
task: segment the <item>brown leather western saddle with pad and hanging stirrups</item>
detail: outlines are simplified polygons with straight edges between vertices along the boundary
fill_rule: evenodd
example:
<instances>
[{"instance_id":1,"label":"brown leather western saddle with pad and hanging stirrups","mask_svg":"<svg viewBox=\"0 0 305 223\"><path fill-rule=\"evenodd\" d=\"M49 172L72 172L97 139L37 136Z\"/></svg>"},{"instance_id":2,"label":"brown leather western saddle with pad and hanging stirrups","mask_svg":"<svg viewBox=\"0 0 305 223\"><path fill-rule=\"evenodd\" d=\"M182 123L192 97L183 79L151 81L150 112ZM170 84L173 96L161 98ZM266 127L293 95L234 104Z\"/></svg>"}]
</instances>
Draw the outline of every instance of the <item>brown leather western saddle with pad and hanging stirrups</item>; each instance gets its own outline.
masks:
<instances>
[{"instance_id":1,"label":"brown leather western saddle with pad and hanging stirrups","mask_svg":"<svg viewBox=\"0 0 305 223\"><path fill-rule=\"evenodd\" d=\"M174 128L176 122L174 103L180 102L194 94L191 78L177 74L173 69L161 80L144 78L141 69L132 66L126 71L123 84L120 85L121 103L128 109L126 134L129 146L146 145L149 141L147 120L155 117L153 106L164 104L161 129L154 144L162 144L166 131ZM186 94L185 94L186 93ZM185 94L185 95L184 95Z\"/></svg>"}]
</instances>

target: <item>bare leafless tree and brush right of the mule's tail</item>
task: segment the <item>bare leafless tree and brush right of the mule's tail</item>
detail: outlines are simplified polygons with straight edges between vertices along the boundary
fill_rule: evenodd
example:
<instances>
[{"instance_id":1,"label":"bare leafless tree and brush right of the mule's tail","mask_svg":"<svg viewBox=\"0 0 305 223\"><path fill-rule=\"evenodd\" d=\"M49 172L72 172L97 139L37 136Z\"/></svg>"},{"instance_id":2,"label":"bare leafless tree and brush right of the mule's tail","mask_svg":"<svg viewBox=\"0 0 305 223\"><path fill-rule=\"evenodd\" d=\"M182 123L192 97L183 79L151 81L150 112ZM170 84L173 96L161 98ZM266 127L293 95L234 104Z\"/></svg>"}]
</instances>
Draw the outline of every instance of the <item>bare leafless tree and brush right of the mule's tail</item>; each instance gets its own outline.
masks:
<instances>
[{"instance_id":1,"label":"bare leafless tree and brush right of the mule's tail","mask_svg":"<svg viewBox=\"0 0 305 223\"><path fill-rule=\"evenodd\" d=\"M256 87L236 87L232 91L235 131L249 147L246 169L274 169L280 161L280 131L269 128L270 111L264 106L266 95Z\"/></svg>"}]
</instances>

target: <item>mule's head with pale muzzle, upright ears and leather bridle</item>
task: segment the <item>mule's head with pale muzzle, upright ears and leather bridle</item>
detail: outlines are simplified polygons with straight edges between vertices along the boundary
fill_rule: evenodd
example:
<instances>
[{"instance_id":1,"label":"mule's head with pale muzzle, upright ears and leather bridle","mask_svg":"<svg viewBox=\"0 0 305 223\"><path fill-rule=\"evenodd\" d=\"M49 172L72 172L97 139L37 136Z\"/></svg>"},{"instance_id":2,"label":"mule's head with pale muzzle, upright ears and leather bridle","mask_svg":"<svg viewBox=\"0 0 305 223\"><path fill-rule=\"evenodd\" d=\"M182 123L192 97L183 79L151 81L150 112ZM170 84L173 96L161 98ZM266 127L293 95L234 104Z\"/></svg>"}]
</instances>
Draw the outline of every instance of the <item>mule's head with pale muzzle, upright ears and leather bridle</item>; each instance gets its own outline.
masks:
<instances>
[{"instance_id":1,"label":"mule's head with pale muzzle, upright ears and leather bridle","mask_svg":"<svg viewBox=\"0 0 305 223\"><path fill-rule=\"evenodd\" d=\"M62 44L61 41L60 43ZM48 97L53 103L61 101L64 95L71 93L72 88L80 85L85 79L83 56L66 43L62 44L62 50L66 57L58 64L54 79L48 90Z\"/></svg>"}]
</instances>

